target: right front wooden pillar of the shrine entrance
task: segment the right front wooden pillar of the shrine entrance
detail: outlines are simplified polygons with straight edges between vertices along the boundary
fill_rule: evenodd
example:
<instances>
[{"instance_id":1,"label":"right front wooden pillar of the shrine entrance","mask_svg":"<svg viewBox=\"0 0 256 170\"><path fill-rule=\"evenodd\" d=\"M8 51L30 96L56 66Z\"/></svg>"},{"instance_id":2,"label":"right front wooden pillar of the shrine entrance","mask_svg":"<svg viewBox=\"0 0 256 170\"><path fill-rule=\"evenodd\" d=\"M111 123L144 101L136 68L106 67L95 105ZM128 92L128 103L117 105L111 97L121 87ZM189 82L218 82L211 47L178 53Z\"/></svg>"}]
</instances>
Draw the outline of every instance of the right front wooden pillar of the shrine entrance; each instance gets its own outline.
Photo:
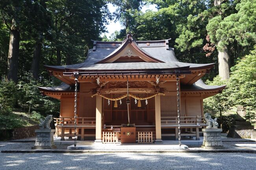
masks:
<instances>
[{"instance_id":1,"label":"right front wooden pillar of the shrine entrance","mask_svg":"<svg viewBox=\"0 0 256 170\"><path fill-rule=\"evenodd\" d=\"M161 139L161 108L160 108L160 95L155 97L155 118L156 118L156 142L162 143Z\"/></svg>"}]
</instances>

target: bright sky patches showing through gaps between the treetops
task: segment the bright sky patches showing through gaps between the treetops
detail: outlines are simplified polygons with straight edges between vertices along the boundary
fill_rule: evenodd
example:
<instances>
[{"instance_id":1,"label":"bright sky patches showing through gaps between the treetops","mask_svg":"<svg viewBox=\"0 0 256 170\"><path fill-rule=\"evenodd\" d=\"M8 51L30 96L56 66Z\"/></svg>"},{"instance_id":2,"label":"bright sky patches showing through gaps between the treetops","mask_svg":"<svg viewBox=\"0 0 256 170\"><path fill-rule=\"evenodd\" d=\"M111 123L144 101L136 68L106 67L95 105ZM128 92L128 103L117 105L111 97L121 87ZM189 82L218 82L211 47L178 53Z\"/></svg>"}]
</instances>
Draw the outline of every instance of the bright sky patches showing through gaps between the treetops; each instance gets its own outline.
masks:
<instances>
[{"instance_id":1,"label":"bright sky patches showing through gaps between the treetops","mask_svg":"<svg viewBox=\"0 0 256 170\"><path fill-rule=\"evenodd\" d=\"M116 7L114 7L112 4L108 4L108 9L111 13L115 12L116 10ZM152 10L152 11L157 11L156 9L156 5L144 5L141 9L141 11L143 13L145 13L146 10ZM112 33L114 33L115 31L120 31L120 29L124 28L124 26L121 26L120 22L117 21L117 22L114 22L113 20L108 20L109 21L109 24L106 25L106 30L109 32L109 33L103 33L101 35L101 37L104 36L104 34L106 34L107 37L109 37Z\"/></svg>"}]
</instances>

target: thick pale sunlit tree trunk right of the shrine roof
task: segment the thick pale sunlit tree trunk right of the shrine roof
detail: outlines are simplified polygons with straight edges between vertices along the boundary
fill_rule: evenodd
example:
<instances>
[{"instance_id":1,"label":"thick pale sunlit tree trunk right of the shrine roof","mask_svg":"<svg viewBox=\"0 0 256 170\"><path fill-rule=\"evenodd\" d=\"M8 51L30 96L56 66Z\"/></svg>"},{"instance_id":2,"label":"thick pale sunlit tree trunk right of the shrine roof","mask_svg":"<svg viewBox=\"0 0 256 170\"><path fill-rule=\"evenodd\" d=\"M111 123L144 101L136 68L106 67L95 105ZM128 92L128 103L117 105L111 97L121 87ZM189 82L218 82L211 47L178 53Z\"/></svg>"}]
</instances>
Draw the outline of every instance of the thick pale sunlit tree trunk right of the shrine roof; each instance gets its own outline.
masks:
<instances>
[{"instance_id":1,"label":"thick pale sunlit tree trunk right of the shrine roof","mask_svg":"<svg viewBox=\"0 0 256 170\"><path fill-rule=\"evenodd\" d=\"M222 80L229 79L229 62L228 48L225 46L223 51L218 50L219 76Z\"/></svg>"}]
</instances>

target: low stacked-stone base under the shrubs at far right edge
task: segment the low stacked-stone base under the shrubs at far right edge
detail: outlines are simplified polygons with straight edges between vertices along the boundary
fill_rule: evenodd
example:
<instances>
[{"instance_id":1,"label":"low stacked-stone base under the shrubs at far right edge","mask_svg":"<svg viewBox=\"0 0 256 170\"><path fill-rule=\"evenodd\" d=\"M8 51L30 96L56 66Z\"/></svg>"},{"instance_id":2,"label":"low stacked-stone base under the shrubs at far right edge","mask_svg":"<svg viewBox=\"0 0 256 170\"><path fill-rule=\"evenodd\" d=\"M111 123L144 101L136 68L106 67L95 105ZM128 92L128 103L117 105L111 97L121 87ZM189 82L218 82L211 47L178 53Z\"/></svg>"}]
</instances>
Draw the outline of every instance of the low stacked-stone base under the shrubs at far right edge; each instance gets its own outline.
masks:
<instances>
[{"instance_id":1,"label":"low stacked-stone base under the shrubs at far right edge","mask_svg":"<svg viewBox=\"0 0 256 170\"><path fill-rule=\"evenodd\" d=\"M228 130L227 137L244 138L244 139L256 139L256 131L254 126L250 122L236 121Z\"/></svg>"}]
</instances>

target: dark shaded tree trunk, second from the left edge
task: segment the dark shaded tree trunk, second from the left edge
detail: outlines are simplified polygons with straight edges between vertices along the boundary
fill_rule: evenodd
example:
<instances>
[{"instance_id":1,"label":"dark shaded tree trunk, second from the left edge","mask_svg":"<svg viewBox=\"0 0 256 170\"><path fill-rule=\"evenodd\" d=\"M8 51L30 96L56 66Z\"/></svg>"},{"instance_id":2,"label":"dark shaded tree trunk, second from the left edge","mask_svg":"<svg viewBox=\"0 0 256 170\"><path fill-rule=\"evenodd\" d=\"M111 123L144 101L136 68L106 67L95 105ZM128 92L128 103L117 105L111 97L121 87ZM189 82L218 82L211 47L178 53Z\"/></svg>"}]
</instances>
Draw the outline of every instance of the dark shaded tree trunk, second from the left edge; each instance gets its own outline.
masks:
<instances>
[{"instance_id":1,"label":"dark shaded tree trunk, second from the left edge","mask_svg":"<svg viewBox=\"0 0 256 170\"><path fill-rule=\"evenodd\" d=\"M32 76L36 80L39 78L39 64L40 64L41 54L42 54L42 43L41 41L39 41L35 44L33 60L32 60L32 68L31 68Z\"/></svg>"}]
</instances>

